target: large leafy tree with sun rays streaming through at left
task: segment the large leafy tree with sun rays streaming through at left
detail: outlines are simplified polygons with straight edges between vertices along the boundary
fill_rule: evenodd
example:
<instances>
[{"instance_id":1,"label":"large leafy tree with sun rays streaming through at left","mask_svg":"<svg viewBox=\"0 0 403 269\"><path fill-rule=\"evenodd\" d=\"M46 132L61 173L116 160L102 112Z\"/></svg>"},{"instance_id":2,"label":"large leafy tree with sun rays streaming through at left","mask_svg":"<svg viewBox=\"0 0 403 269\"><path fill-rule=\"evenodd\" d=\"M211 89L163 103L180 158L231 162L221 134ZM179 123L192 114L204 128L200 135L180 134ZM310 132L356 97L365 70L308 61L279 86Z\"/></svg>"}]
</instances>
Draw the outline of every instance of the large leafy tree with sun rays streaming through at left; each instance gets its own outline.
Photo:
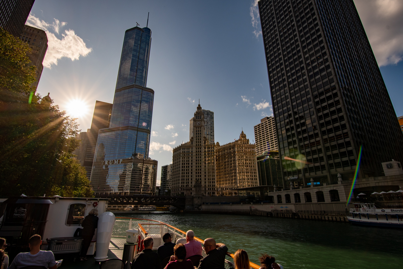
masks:
<instances>
[{"instance_id":1,"label":"large leafy tree with sun rays streaming through at left","mask_svg":"<svg viewBox=\"0 0 403 269\"><path fill-rule=\"evenodd\" d=\"M80 142L75 119L39 94L28 102L31 69L21 64L18 40L10 40L1 29L1 51L10 56L0 56L0 196L92 197L85 169L73 158Z\"/></svg>"}]
</instances>

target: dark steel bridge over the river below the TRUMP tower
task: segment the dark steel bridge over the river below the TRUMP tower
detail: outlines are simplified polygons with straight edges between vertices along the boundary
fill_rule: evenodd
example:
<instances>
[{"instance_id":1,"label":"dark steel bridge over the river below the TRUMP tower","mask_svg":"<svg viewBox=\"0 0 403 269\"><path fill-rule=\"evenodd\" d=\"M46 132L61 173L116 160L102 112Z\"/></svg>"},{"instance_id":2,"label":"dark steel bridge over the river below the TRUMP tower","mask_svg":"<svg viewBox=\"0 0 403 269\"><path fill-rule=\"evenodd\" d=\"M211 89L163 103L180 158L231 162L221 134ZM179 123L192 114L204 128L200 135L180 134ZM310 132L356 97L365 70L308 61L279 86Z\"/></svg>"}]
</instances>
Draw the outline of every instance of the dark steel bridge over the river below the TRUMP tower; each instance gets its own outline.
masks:
<instances>
[{"instance_id":1,"label":"dark steel bridge over the river below the TRUMP tower","mask_svg":"<svg viewBox=\"0 0 403 269\"><path fill-rule=\"evenodd\" d=\"M172 205L185 209L185 196L149 196L149 195L101 195L110 199L110 205Z\"/></svg>"}]
</instances>

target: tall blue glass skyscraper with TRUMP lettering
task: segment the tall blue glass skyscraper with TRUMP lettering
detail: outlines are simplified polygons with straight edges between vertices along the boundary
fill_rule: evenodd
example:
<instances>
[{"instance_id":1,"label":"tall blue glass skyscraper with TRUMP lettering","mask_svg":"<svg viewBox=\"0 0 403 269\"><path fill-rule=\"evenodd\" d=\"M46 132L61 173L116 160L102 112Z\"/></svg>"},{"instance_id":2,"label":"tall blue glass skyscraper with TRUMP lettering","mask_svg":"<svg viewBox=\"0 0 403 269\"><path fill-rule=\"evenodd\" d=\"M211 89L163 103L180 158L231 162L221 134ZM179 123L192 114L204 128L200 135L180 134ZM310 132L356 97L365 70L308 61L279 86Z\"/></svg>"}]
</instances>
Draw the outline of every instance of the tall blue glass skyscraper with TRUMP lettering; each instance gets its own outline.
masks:
<instances>
[{"instance_id":1,"label":"tall blue glass skyscraper with TRUMP lettering","mask_svg":"<svg viewBox=\"0 0 403 269\"><path fill-rule=\"evenodd\" d=\"M94 154L91 184L96 193L120 192L121 179L133 174L133 158L148 158L154 102L154 90L146 88L150 45L148 27L125 32L110 124L99 130Z\"/></svg>"}]
</instances>

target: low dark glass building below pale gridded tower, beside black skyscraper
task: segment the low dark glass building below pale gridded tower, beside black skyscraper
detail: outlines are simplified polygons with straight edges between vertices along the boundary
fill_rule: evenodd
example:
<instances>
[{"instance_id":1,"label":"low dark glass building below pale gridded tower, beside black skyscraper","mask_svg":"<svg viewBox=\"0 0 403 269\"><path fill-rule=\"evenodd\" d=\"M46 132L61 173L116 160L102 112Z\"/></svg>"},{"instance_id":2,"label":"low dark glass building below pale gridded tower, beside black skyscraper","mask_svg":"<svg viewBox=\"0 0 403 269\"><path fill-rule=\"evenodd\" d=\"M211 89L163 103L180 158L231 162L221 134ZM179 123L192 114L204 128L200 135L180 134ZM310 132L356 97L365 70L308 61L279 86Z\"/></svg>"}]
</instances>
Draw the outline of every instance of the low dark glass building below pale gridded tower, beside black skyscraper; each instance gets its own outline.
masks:
<instances>
[{"instance_id":1,"label":"low dark glass building below pale gridded tower, beside black skyscraper","mask_svg":"<svg viewBox=\"0 0 403 269\"><path fill-rule=\"evenodd\" d=\"M283 169L278 151L264 152L257 158L259 186L284 188ZM288 186L287 186L288 187Z\"/></svg>"}]
</instances>

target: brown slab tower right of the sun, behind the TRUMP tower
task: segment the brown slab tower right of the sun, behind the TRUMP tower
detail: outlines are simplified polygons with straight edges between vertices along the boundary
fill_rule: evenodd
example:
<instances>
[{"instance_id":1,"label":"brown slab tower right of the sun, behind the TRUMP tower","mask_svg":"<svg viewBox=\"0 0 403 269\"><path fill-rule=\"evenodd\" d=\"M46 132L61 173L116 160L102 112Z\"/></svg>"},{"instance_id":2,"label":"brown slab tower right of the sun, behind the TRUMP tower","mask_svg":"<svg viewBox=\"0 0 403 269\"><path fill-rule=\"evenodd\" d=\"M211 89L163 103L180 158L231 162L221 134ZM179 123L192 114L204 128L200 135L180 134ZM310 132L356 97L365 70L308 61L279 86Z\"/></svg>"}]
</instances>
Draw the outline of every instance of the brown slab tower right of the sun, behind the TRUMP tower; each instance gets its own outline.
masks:
<instances>
[{"instance_id":1,"label":"brown slab tower right of the sun, behind the TRUMP tower","mask_svg":"<svg viewBox=\"0 0 403 269\"><path fill-rule=\"evenodd\" d=\"M100 129L108 128L110 123L110 114L112 113L112 104L96 101L94 113L92 115L91 129L87 132L88 143L85 149L85 159L83 166L87 171L88 179L91 178L92 164L94 161L95 147L98 140Z\"/></svg>"}]
</instances>

